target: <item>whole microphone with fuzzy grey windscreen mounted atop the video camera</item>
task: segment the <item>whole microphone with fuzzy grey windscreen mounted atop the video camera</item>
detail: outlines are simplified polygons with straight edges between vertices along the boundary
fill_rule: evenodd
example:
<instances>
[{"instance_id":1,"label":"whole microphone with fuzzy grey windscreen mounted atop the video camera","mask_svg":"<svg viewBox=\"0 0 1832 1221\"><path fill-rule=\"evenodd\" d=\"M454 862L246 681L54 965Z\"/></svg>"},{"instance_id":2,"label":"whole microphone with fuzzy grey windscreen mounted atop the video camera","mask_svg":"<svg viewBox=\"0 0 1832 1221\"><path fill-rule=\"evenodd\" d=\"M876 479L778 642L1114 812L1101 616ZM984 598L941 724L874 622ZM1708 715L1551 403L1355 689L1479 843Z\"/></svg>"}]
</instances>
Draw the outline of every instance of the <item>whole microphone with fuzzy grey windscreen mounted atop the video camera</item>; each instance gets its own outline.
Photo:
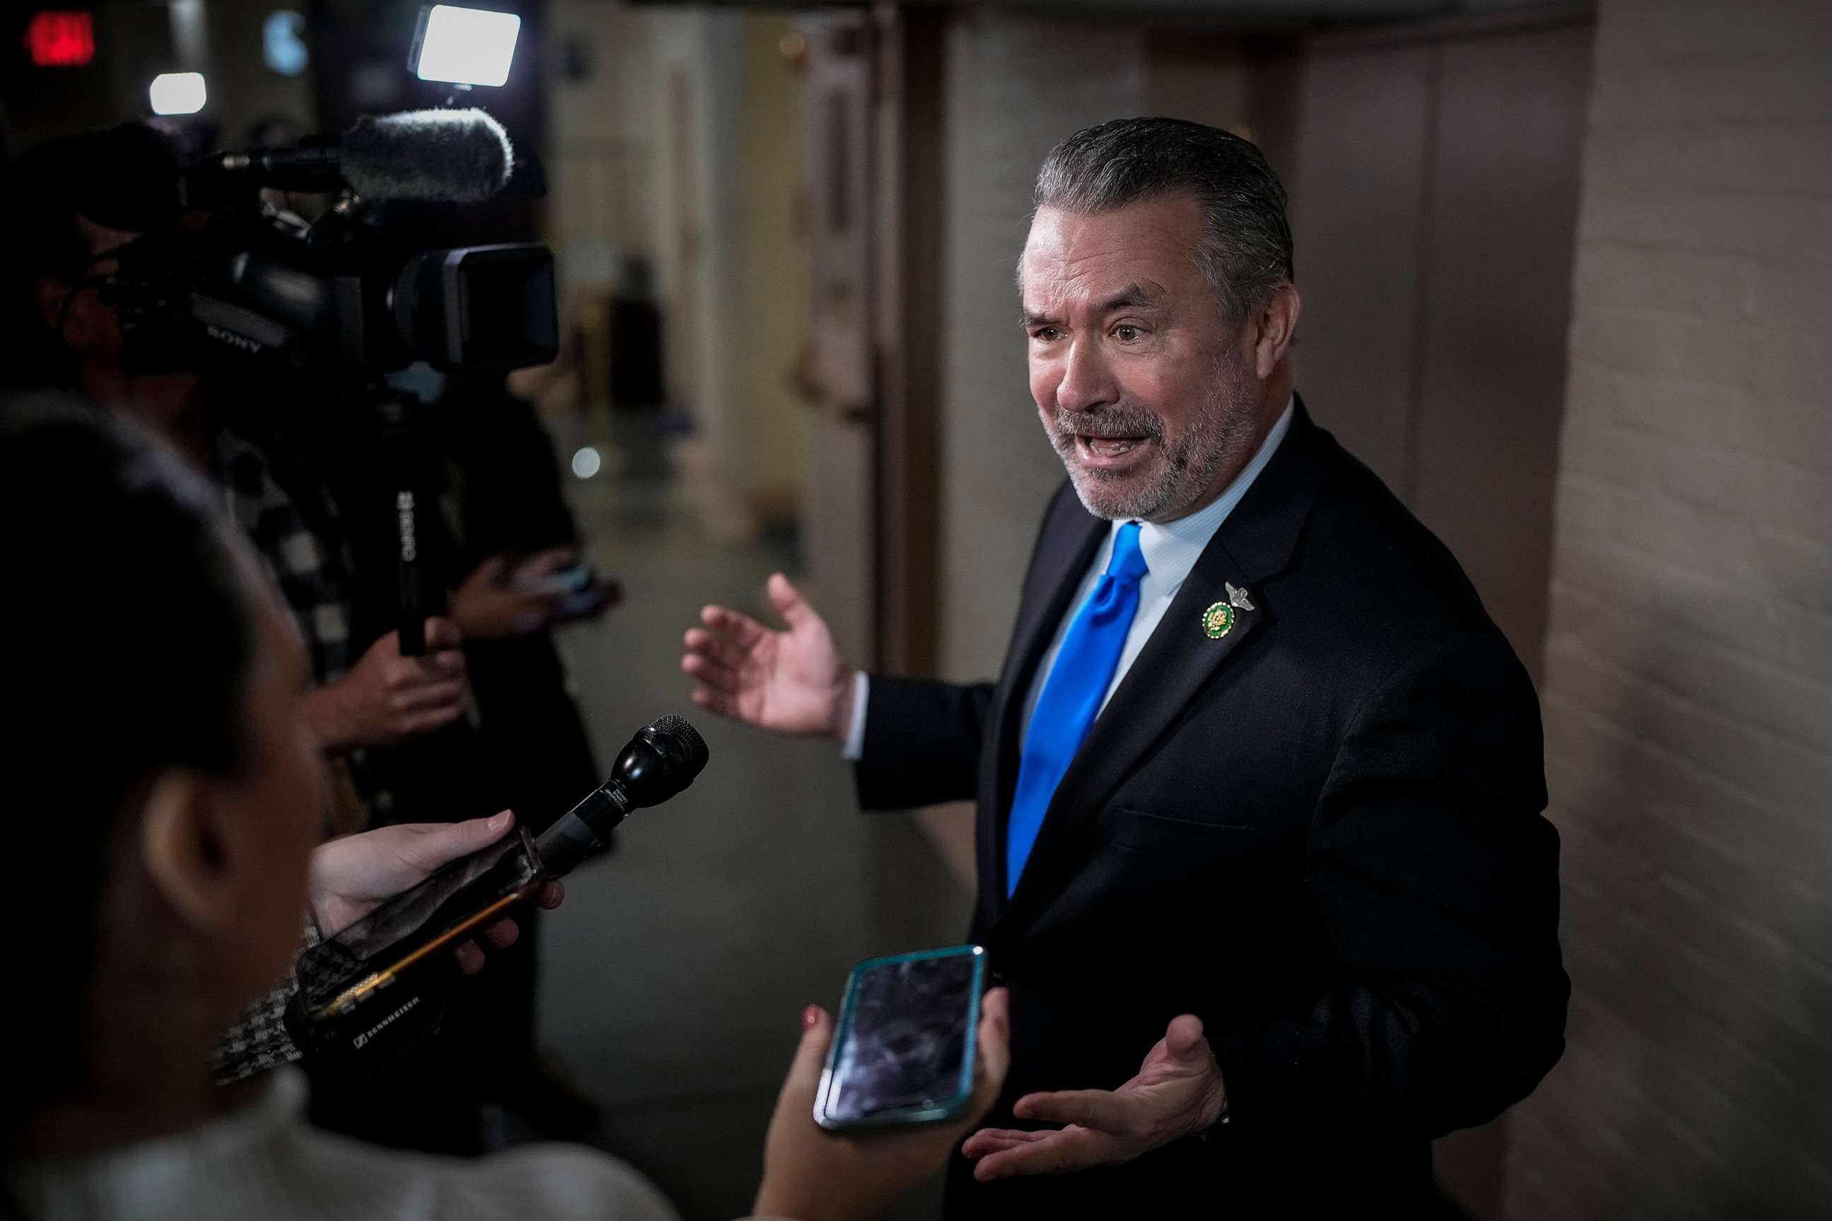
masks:
<instances>
[{"instance_id":1,"label":"whole microphone with fuzzy grey windscreen mounted atop the video camera","mask_svg":"<svg viewBox=\"0 0 1832 1221\"><path fill-rule=\"evenodd\" d=\"M403 110L363 115L335 141L225 152L211 168L284 190L348 185L366 200L482 203L515 168L504 126L482 110Z\"/></svg>"}]
</instances>

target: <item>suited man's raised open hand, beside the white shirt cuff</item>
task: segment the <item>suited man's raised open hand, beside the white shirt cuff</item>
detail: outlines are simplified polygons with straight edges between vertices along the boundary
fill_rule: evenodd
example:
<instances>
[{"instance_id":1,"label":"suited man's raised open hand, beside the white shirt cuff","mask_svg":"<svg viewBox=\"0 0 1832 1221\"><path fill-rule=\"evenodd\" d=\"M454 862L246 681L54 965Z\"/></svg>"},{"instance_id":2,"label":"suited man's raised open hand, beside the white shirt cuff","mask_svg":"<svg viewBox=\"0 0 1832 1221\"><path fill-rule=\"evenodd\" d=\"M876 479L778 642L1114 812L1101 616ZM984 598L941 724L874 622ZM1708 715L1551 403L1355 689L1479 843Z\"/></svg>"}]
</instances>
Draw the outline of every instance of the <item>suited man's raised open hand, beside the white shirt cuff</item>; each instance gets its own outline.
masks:
<instances>
[{"instance_id":1,"label":"suited man's raised open hand, beside the white shirt cuff","mask_svg":"<svg viewBox=\"0 0 1832 1221\"><path fill-rule=\"evenodd\" d=\"M724 606L700 611L705 628L689 628L682 657L682 670L702 683L692 701L779 734L843 740L852 719L852 668L834 648L826 621L782 573L769 578L769 600L788 632Z\"/></svg>"}]
</instances>

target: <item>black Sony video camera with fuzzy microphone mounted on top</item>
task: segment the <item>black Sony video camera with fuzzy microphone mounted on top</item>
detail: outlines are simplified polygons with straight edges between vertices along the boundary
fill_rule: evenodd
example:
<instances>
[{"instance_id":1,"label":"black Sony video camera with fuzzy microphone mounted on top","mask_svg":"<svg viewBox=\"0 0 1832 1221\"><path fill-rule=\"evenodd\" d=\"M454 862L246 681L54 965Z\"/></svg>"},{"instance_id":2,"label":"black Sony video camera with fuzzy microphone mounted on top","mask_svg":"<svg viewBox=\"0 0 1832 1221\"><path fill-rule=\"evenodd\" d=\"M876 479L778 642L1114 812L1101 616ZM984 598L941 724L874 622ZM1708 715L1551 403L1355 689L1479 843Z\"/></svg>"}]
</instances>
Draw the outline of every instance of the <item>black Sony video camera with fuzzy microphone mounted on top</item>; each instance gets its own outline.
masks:
<instances>
[{"instance_id":1,"label":"black Sony video camera with fuzzy microphone mounted on top","mask_svg":"<svg viewBox=\"0 0 1832 1221\"><path fill-rule=\"evenodd\" d=\"M365 117L335 141L218 152L178 172L176 223L114 251L101 284L134 372L247 361L374 381L544 364L559 350L553 254L500 243L414 249L377 201L478 203L513 150L482 110ZM333 196L306 222L264 190Z\"/></svg>"}]
</instances>

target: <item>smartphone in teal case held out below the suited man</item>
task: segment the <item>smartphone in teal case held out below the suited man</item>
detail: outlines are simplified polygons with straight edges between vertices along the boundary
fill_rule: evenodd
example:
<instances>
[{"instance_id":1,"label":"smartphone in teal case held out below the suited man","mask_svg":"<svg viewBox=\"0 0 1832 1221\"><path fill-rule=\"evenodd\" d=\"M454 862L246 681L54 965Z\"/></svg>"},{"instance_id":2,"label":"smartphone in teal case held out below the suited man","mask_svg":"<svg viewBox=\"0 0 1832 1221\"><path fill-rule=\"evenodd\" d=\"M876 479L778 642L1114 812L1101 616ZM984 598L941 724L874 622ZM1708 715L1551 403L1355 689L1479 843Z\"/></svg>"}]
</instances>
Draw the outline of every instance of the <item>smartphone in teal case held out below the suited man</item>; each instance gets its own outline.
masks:
<instances>
[{"instance_id":1,"label":"smartphone in teal case held out below the suited man","mask_svg":"<svg viewBox=\"0 0 1832 1221\"><path fill-rule=\"evenodd\" d=\"M813 1118L830 1131L960 1118L973 1095L986 950L894 954L846 981Z\"/></svg>"}]
</instances>

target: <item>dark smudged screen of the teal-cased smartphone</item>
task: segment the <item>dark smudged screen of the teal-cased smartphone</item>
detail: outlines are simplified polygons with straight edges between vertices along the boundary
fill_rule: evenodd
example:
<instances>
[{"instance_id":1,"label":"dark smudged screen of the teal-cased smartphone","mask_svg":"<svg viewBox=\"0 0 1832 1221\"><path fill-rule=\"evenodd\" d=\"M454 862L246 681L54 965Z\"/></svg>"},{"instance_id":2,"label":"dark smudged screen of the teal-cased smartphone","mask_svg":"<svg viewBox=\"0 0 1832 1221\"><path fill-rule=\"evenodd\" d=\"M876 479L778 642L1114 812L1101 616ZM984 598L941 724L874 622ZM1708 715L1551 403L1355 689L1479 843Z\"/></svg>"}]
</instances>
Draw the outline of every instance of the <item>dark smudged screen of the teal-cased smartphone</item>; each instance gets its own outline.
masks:
<instances>
[{"instance_id":1,"label":"dark smudged screen of the teal-cased smartphone","mask_svg":"<svg viewBox=\"0 0 1832 1221\"><path fill-rule=\"evenodd\" d=\"M826 1113L859 1120L925 1109L960 1093L973 954L885 963L857 976Z\"/></svg>"}]
</instances>

